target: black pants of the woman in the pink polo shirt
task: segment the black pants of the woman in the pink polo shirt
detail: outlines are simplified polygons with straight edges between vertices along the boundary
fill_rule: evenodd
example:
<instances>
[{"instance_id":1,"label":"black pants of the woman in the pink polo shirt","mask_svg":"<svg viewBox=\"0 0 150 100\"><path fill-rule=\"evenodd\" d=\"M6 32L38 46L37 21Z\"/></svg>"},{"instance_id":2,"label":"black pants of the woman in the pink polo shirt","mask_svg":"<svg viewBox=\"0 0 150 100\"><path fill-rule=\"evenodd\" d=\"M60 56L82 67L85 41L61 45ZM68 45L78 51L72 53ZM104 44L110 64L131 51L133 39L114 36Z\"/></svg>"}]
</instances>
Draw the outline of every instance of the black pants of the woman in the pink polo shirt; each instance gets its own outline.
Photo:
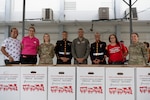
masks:
<instances>
[{"instance_id":1,"label":"black pants of the woman in the pink polo shirt","mask_svg":"<svg viewBox=\"0 0 150 100\"><path fill-rule=\"evenodd\" d=\"M21 55L20 61L21 61L21 64L36 64L37 56L36 55Z\"/></svg>"}]
</instances>

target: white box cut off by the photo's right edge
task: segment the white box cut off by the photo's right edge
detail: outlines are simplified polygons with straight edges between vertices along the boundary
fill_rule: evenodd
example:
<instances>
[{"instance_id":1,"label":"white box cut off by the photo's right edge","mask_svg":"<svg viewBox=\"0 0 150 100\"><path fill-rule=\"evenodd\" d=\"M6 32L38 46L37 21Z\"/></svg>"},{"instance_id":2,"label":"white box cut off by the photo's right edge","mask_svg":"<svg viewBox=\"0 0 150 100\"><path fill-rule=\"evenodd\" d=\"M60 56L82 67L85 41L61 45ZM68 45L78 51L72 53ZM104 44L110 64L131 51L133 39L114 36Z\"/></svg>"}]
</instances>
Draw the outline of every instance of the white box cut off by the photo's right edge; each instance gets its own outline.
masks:
<instances>
[{"instance_id":1,"label":"white box cut off by the photo's right edge","mask_svg":"<svg viewBox=\"0 0 150 100\"><path fill-rule=\"evenodd\" d=\"M136 100L150 100L150 68L136 68Z\"/></svg>"}]
</instances>

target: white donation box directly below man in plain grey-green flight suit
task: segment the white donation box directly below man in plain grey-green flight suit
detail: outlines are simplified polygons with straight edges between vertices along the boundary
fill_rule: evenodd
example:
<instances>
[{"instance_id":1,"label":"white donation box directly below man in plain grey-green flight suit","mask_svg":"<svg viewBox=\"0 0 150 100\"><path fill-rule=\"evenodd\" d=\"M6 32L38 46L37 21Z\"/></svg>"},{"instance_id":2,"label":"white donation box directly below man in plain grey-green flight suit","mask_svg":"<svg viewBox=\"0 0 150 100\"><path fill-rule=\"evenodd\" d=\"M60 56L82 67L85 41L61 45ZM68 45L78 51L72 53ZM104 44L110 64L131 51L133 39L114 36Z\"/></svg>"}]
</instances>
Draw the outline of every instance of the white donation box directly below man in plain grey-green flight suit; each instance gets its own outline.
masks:
<instances>
[{"instance_id":1,"label":"white donation box directly below man in plain grey-green flight suit","mask_svg":"<svg viewBox=\"0 0 150 100\"><path fill-rule=\"evenodd\" d=\"M77 100L105 100L104 67L77 67Z\"/></svg>"}]
</instances>

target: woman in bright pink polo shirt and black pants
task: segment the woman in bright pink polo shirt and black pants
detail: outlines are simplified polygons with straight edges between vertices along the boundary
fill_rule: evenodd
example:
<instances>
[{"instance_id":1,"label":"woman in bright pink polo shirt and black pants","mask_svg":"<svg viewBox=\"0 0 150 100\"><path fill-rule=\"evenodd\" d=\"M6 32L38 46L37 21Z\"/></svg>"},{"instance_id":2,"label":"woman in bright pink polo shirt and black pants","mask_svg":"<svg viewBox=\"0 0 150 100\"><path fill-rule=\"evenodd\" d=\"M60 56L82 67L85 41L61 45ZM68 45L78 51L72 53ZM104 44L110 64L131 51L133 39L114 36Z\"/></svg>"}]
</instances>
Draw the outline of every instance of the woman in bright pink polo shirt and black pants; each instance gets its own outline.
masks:
<instances>
[{"instance_id":1,"label":"woman in bright pink polo shirt and black pants","mask_svg":"<svg viewBox=\"0 0 150 100\"><path fill-rule=\"evenodd\" d=\"M29 27L28 36L23 37L21 42L21 64L36 64L39 39L35 36L35 28Z\"/></svg>"}]
</instances>

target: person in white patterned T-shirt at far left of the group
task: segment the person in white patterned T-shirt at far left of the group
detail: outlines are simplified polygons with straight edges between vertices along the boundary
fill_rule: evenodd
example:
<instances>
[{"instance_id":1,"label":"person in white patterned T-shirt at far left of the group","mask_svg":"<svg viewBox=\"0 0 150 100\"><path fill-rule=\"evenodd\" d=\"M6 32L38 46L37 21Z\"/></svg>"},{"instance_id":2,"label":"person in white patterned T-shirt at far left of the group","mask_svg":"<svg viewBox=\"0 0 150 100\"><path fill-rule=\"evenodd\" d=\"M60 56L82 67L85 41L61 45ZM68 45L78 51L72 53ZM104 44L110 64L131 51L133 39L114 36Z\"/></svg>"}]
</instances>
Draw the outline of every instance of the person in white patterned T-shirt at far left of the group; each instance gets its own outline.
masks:
<instances>
[{"instance_id":1,"label":"person in white patterned T-shirt at far left of the group","mask_svg":"<svg viewBox=\"0 0 150 100\"><path fill-rule=\"evenodd\" d=\"M5 64L19 64L21 45L18 37L18 29L12 28L10 37L6 38L1 46L1 52L5 55Z\"/></svg>"}]
</instances>

